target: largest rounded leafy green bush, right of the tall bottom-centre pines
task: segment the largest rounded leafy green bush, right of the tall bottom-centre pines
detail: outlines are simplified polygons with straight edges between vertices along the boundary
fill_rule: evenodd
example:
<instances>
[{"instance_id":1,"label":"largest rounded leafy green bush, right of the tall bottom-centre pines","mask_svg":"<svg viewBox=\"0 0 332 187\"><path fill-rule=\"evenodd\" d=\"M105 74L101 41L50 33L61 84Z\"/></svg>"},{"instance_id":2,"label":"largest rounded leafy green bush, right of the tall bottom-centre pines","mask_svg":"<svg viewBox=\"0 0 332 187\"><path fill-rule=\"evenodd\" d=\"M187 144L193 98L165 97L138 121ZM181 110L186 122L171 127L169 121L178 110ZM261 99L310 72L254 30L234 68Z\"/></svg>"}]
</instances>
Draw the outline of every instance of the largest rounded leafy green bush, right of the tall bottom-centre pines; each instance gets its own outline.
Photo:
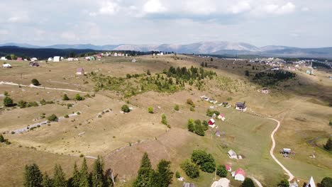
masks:
<instances>
[{"instance_id":1,"label":"largest rounded leafy green bush, right of the tall bottom-centre pines","mask_svg":"<svg viewBox=\"0 0 332 187\"><path fill-rule=\"evenodd\" d=\"M209 154L203 150L194 150L192 152L192 162L201 166L201 171L213 173L216 171L216 162L212 154Z\"/></svg>"}]
</instances>

